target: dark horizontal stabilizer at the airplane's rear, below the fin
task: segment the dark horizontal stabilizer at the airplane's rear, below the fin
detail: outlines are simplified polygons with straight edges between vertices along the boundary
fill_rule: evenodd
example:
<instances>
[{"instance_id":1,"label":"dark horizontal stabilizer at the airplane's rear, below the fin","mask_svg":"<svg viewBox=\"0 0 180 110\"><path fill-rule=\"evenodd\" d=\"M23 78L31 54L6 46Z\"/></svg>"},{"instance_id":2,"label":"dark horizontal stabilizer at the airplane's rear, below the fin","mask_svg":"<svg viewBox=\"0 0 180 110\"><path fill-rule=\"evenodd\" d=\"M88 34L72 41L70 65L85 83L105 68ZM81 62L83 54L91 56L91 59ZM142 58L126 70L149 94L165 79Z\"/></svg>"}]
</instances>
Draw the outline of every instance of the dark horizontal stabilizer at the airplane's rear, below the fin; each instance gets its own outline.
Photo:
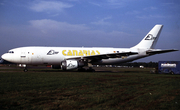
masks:
<instances>
[{"instance_id":1,"label":"dark horizontal stabilizer at the airplane's rear, below the fin","mask_svg":"<svg viewBox=\"0 0 180 110\"><path fill-rule=\"evenodd\" d=\"M179 51L177 49L167 49L167 50L161 50L161 49L151 49L146 51L147 54L154 55L154 54L161 54L166 52L173 52L173 51Z\"/></svg>"}]
</instances>

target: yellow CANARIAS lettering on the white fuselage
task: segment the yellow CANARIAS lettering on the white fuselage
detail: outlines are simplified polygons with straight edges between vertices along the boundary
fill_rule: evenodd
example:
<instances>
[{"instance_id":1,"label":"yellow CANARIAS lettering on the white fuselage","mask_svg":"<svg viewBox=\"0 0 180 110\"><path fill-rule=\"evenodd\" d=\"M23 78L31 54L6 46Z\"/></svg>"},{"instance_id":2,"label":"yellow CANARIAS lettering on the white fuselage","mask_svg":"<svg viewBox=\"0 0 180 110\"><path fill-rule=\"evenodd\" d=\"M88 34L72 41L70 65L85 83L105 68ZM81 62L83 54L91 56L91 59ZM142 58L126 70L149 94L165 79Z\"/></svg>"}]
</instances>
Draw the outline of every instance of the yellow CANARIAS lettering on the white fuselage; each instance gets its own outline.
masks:
<instances>
[{"instance_id":1,"label":"yellow CANARIAS lettering on the white fuselage","mask_svg":"<svg viewBox=\"0 0 180 110\"><path fill-rule=\"evenodd\" d=\"M90 56L98 55L100 52L98 50L63 50L62 54L64 56Z\"/></svg>"}]
</instances>

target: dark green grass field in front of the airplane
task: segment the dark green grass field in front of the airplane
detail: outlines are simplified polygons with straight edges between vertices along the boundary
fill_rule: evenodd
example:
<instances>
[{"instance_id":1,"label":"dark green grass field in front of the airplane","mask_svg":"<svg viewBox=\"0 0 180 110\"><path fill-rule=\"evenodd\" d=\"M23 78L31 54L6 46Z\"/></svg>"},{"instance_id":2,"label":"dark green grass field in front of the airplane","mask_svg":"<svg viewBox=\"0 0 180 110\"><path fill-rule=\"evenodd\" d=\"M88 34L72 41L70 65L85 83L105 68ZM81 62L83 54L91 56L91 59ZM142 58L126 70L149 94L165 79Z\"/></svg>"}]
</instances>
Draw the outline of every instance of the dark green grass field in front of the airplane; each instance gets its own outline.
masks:
<instances>
[{"instance_id":1,"label":"dark green grass field in front of the airplane","mask_svg":"<svg viewBox=\"0 0 180 110\"><path fill-rule=\"evenodd\" d=\"M180 75L138 68L96 70L0 67L0 109L180 109Z\"/></svg>"}]
</instances>

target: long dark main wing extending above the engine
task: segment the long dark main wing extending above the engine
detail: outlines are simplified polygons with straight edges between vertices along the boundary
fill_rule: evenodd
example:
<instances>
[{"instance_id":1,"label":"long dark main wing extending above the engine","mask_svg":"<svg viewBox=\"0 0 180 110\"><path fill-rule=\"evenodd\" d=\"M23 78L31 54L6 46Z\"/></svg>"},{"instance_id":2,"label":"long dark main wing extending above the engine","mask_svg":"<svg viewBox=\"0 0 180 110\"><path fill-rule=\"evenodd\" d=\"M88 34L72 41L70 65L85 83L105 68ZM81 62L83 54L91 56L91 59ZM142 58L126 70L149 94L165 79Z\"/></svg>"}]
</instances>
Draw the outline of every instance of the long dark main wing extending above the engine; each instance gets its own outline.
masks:
<instances>
[{"instance_id":1,"label":"long dark main wing extending above the engine","mask_svg":"<svg viewBox=\"0 0 180 110\"><path fill-rule=\"evenodd\" d=\"M108 53L108 54L99 54L99 55L91 55L91 56L81 56L69 59L85 59L85 60L101 60L101 59L108 59L108 58L120 58L121 56L129 56L135 55L138 52L121 52L121 53Z\"/></svg>"}]
</instances>

